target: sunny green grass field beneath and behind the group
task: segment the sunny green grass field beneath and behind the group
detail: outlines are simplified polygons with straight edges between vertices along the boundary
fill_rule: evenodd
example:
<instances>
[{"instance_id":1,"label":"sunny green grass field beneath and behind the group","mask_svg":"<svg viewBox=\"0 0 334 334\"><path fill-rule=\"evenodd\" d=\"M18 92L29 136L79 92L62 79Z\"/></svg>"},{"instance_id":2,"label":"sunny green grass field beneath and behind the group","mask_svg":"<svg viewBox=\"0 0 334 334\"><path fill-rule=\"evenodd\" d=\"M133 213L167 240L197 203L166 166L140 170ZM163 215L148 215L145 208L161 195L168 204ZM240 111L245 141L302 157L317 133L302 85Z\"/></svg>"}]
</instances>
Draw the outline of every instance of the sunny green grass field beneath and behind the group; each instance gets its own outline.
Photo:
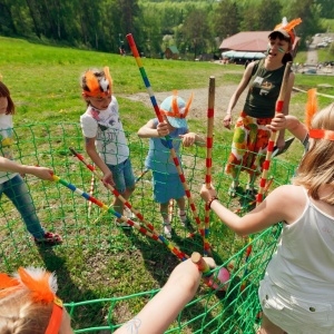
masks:
<instances>
[{"instance_id":1,"label":"sunny green grass field beneath and behind the group","mask_svg":"<svg viewBox=\"0 0 334 334\"><path fill-rule=\"evenodd\" d=\"M243 66L222 67L210 62L143 59L143 63L156 92L171 91L176 88L206 88L210 76L215 76L217 87L237 85L244 71ZM84 139L78 125L79 117L85 111L79 89L80 73L87 68L102 66L110 67L116 96L146 91L132 57L46 47L0 37L0 73L17 104L14 125L19 141L17 149L20 153L18 159L36 164L38 158L39 165L52 166L60 177L88 189L91 175L70 156L68 147L73 146L84 153ZM304 91L317 87L320 94L334 96L334 77L296 75L295 87ZM136 132L145 121L154 117L154 111L141 102L126 98L120 97L118 101L121 106L124 127L128 132L135 171L139 175L144 168L147 141L139 140ZM305 92L294 92L291 112L303 119L305 102ZM321 108L331 102L333 98L318 97ZM204 121L190 120L189 126L206 134ZM286 137L289 137L289 134L286 134ZM230 181L223 173L230 139L232 132L224 131L219 126L215 128L215 145L219 155L214 159L214 181L217 188L222 189L220 199L229 207L236 208L238 204L232 203L223 191ZM292 148L273 164L273 170L277 171L276 186L288 181L293 171L291 166L299 161L301 155L302 146L295 140ZM184 160L191 191L196 203L199 203L198 188L204 178L205 151L193 148L185 153ZM147 219L154 219L157 207L151 203L149 178L147 175L140 181L132 205L144 209ZM4 202L0 205L0 228L6 225L8 229L0 229L0 269L13 269L18 265L28 264L45 265L58 273L60 297L66 302L81 302L111 296L120 298L156 289L166 282L168 274L178 263L176 256L156 242L136 233L111 228L110 215L94 224L100 212L94 208L92 218L88 218L88 204L68 189L40 183L31 177L28 179L43 224L65 234L65 245L55 249L36 248L27 238L16 210ZM110 203L110 194L102 187L98 189L96 196ZM203 216L203 208L199 209L199 214ZM160 226L157 225L157 228ZM258 237L256 243L271 245L268 247L272 248L268 249L272 252L275 239L273 233L276 230L267 232L262 238ZM187 238L187 232L179 227L177 235L174 242L185 252L200 252L200 239ZM13 239L23 242L10 245ZM219 265L227 264L227 259L234 258L235 254L239 254L235 261L242 261L243 249L246 247L245 239L222 227L215 218L212 223L210 242L216 247L215 257ZM259 258L268 256L262 254ZM263 266L264 263L265 261L256 265ZM202 287L199 294L204 293L207 292ZM79 328L84 326L94 327L107 322L121 323L140 310L146 301L147 297L135 298L129 305L120 302L112 315L108 313L108 306L84 304L79 312L75 312L73 326L81 333ZM217 303L216 296L210 303ZM202 308L207 310L210 305L206 304ZM197 308L189 310L186 316L191 318L196 312ZM180 333L195 333L195 330L189 325Z\"/></svg>"}]
</instances>

